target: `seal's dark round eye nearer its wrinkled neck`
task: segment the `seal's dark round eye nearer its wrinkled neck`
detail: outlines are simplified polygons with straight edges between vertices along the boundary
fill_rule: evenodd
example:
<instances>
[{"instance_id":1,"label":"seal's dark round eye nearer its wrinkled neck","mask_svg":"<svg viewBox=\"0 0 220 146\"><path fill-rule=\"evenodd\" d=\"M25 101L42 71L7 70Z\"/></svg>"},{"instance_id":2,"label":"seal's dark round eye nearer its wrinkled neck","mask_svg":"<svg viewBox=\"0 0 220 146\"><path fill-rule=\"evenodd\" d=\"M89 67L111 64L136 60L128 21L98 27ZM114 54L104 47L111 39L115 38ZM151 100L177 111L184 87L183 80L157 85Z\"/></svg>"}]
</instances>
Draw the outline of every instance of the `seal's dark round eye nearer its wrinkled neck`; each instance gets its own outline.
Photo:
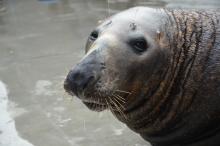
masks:
<instances>
[{"instance_id":1,"label":"seal's dark round eye nearer its wrinkled neck","mask_svg":"<svg viewBox=\"0 0 220 146\"><path fill-rule=\"evenodd\" d=\"M144 37L132 39L130 40L129 44L134 49L135 53L138 54L143 53L148 48L147 42Z\"/></svg>"}]
</instances>

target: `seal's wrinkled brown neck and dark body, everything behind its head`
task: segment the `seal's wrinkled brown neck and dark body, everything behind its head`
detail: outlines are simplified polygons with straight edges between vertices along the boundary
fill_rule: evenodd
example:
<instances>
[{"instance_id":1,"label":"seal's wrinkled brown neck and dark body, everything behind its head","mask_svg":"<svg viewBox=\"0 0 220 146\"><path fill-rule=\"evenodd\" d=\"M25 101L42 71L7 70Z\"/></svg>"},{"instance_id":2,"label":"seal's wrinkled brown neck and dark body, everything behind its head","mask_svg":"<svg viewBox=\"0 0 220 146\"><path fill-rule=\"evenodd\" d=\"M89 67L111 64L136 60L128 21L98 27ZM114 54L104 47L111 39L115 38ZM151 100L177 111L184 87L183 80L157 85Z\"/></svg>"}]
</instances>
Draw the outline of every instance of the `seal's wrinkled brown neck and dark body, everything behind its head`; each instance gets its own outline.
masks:
<instances>
[{"instance_id":1,"label":"seal's wrinkled brown neck and dark body, everything behind its head","mask_svg":"<svg viewBox=\"0 0 220 146\"><path fill-rule=\"evenodd\" d=\"M203 139L220 128L219 13L165 12L160 31L166 40L158 43L170 50L169 60L142 90L146 97L132 109L137 114L128 125L158 146L218 146L219 139Z\"/></svg>"}]
</instances>

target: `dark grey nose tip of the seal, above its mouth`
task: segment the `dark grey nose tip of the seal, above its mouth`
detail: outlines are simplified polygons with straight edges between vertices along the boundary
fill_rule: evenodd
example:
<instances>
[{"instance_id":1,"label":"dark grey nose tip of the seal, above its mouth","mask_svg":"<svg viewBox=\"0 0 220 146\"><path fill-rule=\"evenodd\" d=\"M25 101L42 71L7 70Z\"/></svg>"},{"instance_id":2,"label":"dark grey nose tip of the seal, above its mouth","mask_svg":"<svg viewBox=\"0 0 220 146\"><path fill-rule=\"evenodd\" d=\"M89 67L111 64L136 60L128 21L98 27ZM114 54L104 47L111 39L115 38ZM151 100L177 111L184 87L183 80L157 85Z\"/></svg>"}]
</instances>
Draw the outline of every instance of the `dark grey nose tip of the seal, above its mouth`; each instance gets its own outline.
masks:
<instances>
[{"instance_id":1,"label":"dark grey nose tip of the seal, above its mouth","mask_svg":"<svg viewBox=\"0 0 220 146\"><path fill-rule=\"evenodd\" d=\"M88 72L80 69L74 69L69 72L64 82L64 89L70 93L80 96L84 90L94 81L94 76Z\"/></svg>"}]
</instances>

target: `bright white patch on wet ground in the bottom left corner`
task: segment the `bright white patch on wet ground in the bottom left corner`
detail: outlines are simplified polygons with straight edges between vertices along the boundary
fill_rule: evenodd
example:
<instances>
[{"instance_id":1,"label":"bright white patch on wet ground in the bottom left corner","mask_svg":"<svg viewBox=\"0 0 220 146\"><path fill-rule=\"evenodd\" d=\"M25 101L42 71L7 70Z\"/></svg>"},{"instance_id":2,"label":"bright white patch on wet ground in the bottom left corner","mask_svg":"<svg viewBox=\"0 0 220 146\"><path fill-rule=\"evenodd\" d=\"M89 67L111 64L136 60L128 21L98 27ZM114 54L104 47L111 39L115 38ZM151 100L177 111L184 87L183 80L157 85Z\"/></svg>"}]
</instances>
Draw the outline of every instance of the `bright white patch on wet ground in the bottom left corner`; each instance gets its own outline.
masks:
<instances>
[{"instance_id":1,"label":"bright white patch on wet ground in the bottom left corner","mask_svg":"<svg viewBox=\"0 0 220 146\"><path fill-rule=\"evenodd\" d=\"M16 131L14 119L8 111L8 91L2 81L0 81L0 111L0 146L33 146L22 139Z\"/></svg>"}]
</instances>

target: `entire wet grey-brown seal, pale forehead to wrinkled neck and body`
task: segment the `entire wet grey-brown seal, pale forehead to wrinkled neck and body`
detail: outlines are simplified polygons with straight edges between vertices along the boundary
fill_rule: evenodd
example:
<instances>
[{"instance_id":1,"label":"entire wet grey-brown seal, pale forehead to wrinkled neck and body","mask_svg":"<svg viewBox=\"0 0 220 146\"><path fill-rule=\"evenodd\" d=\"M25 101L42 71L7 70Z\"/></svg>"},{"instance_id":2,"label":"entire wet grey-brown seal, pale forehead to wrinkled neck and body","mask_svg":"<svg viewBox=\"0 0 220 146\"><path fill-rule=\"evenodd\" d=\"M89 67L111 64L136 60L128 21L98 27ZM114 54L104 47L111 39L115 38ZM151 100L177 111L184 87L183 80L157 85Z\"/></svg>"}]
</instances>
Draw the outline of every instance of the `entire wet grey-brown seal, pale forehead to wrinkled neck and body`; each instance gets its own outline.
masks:
<instances>
[{"instance_id":1,"label":"entire wet grey-brown seal, pale forehead to wrinkled neck and body","mask_svg":"<svg viewBox=\"0 0 220 146\"><path fill-rule=\"evenodd\" d=\"M64 88L155 146L219 146L218 12L135 7L90 34Z\"/></svg>"}]
</instances>

